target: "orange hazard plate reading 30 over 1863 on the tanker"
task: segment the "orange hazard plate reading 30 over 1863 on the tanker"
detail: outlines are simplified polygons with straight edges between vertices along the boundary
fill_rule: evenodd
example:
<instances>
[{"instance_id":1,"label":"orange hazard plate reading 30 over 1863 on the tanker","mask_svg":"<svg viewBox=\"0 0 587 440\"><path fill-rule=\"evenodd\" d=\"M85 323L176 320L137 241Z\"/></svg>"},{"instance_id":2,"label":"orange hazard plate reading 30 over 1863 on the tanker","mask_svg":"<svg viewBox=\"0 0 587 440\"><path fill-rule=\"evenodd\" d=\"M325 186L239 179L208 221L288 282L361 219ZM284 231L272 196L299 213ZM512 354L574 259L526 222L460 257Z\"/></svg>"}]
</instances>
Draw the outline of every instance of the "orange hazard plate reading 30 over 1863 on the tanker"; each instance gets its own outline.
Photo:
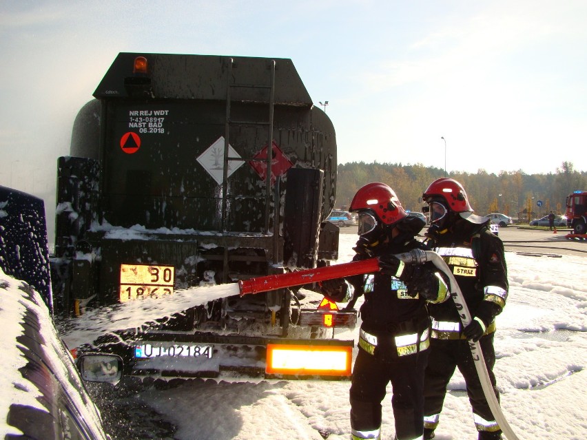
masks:
<instances>
[{"instance_id":1,"label":"orange hazard plate reading 30 over 1863 on the tanker","mask_svg":"<svg viewBox=\"0 0 587 440\"><path fill-rule=\"evenodd\" d=\"M119 300L141 300L146 297L172 295L175 282L174 266L121 264Z\"/></svg>"}]
</instances>

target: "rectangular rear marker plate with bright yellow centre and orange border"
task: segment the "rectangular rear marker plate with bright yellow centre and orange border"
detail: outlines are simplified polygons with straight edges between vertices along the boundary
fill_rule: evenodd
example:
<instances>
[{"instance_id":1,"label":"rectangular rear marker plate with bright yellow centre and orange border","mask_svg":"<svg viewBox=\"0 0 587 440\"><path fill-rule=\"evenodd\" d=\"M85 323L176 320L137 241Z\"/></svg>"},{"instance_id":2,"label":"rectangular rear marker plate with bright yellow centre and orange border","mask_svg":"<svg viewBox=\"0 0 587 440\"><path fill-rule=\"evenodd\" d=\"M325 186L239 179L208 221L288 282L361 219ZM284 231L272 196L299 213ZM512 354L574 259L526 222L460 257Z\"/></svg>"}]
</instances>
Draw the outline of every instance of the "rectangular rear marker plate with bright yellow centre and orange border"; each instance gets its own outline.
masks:
<instances>
[{"instance_id":1,"label":"rectangular rear marker plate with bright yellow centre and orange border","mask_svg":"<svg viewBox=\"0 0 587 440\"><path fill-rule=\"evenodd\" d=\"M350 376L351 346L267 344L269 375Z\"/></svg>"}]
</instances>

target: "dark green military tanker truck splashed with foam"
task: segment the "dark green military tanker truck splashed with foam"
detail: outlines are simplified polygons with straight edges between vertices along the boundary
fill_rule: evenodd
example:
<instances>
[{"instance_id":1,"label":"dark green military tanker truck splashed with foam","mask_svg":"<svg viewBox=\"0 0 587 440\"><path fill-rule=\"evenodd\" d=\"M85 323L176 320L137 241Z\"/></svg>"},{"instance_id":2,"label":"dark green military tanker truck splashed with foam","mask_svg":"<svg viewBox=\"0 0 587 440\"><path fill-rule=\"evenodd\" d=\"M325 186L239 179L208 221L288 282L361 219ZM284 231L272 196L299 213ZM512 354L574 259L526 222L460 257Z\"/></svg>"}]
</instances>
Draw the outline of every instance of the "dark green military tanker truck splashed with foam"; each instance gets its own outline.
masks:
<instances>
[{"instance_id":1,"label":"dark green military tanker truck splashed with foam","mask_svg":"<svg viewBox=\"0 0 587 440\"><path fill-rule=\"evenodd\" d=\"M120 53L93 96L58 160L56 313L338 258L335 131L291 60ZM120 352L133 375L350 375L353 342L333 328L356 311L302 297L234 295L85 349ZM269 366L278 348L298 364ZM344 370L299 361L340 353Z\"/></svg>"}]
</instances>

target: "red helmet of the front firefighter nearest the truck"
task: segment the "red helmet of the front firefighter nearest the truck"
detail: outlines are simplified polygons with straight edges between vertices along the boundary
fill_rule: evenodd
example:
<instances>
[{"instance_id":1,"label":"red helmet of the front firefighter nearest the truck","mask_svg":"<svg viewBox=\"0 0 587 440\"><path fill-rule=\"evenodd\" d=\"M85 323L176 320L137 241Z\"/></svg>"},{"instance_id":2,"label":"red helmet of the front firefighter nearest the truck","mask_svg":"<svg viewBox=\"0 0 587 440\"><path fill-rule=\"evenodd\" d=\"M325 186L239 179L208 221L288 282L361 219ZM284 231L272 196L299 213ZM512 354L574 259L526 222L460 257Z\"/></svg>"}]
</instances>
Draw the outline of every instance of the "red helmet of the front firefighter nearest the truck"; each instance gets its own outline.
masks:
<instances>
[{"instance_id":1,"label":"red helmet of the front firefighter nearest the truck","mask_svg":"<svg viewBox=\"0 0 587 440\"><path fill-rule=\"evenodd\" d=\"M380 182L361 187L351 202L349 211L371 211L383 224L394 224L408 214L393 189Z\"/></svg>"}]
</instances>

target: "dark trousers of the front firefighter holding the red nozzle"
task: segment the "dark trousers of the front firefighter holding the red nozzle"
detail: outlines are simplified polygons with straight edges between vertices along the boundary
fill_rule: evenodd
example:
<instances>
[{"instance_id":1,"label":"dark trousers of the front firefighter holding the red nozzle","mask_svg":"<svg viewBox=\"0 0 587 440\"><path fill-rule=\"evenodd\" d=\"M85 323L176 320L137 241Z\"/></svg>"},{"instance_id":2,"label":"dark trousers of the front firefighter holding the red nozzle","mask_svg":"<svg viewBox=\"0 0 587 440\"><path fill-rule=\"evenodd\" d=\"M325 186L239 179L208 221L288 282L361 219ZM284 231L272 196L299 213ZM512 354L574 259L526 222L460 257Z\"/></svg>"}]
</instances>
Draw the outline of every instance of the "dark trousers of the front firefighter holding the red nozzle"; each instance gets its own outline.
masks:
<instances>
[{"instance_id":1,"label":"dark trousers of the front firefighter holding the red nozzle","mask_svg":"<svg viewBox=\"0 0 587 440\"><path fill-rule=\"evenodd\" d=\"M351 383L353 438L378 438L385 388L391 381L395 437L420 439L423 432L424 368L429 350L383 361L359 348Z\"/></svg>"}]
</instances>

